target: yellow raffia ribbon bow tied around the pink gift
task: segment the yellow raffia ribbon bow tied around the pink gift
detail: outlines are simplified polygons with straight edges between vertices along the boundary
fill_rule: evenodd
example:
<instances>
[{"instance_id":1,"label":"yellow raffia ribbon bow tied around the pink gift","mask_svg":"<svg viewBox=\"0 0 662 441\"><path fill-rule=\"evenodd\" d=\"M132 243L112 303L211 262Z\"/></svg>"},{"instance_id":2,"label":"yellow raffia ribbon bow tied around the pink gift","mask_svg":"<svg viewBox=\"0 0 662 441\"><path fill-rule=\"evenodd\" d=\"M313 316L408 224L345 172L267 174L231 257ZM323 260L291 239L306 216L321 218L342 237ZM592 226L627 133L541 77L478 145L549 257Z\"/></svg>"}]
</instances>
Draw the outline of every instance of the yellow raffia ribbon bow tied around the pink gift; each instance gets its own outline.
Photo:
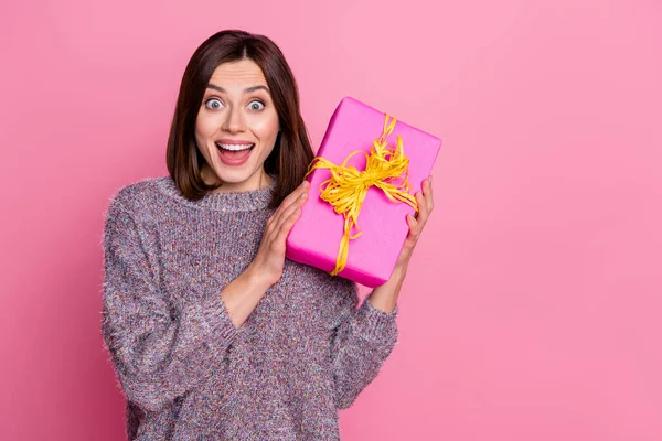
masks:
<instances>
[{"instance_id":1,"label":"yellow raffia ribbon bow tied around the pink gift","mask_svg":"<svg viewBox=\"0 0 662 441\"><path fill-rule=\"evenodd\" d=\"M320 184L320 198L330 203L335 213L342 214L345 219L344 234L331 276L338 276L345 268L350 239L361 236L357 218L363 200L371 186L381 189L391 201L404 202L418 213L416 198L409 194L409 159L405 157L403 140L398 136L395 148L386 141L386 138L393 132L396 121L395 118L389 121L389 116L386 114L382 136L373 141L370 154L356 150L350 153L340 165L322 157L316 157L308 168L306 176L316 169L329 169L331 178ZM356 153L365 154L364 171L348 165L350 159ZM353 229L356 229L357 233L352 234Z\"/></svg>"}]
</instances>

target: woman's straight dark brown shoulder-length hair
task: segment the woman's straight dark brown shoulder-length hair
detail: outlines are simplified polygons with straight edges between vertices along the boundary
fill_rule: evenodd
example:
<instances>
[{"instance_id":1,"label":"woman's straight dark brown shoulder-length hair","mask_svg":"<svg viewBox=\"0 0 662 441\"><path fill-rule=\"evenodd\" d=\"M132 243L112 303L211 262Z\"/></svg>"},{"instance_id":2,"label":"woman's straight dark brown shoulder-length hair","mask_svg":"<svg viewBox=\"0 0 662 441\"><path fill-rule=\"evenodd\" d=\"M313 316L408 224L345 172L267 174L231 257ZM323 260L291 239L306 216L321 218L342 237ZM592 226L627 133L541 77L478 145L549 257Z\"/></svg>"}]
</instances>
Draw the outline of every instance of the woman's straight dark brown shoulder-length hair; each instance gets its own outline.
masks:
<instances>
[{"instance_id":1,"label":"woman's straight dark brown shoulder-length hair","mask_svg":"<svg viewBox=\"0 0 662 441\"><path fill-rule=\"evenodd\" d=\"M299 90L280 49L268 37L227 30L210 36L195 50L180 85L168 138L170 176L189 200L200 200L221 184L209 185L200 174L205 162L195 144L195 119L212 74L222 63L252 60L263 71L278 114L280 132L265 172L277 176L273 208L303 181L313 154L299 109Z\"/></svg>"}]
</instances>

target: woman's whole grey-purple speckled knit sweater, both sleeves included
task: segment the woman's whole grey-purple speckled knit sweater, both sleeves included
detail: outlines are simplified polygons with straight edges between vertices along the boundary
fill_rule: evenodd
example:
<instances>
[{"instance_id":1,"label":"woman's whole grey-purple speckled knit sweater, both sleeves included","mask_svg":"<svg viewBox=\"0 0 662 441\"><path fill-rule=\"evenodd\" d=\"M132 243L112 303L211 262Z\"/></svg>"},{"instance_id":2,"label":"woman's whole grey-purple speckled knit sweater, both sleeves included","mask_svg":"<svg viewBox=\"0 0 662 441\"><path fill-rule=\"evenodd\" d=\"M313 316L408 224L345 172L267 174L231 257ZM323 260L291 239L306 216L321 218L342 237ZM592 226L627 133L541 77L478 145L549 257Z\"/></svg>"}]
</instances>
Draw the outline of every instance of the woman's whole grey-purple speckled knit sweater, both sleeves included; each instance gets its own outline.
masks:
<instances>
[{"instance_id":1,"label":"woman's whole grey-purple speckled knit sweater, both sleeves included","mask_svg":"<svg viewBox=\"0 0 662 441\"><path fill-rule=\"evenodd\" d=\"M397 306L357 306L355 283L288 259L232 323L220 293L257 252L273 191L195 202L168 176L111 198L102 332L130 440L338 440L337 409L391 354Z\"/></svg>"}]
</instances>

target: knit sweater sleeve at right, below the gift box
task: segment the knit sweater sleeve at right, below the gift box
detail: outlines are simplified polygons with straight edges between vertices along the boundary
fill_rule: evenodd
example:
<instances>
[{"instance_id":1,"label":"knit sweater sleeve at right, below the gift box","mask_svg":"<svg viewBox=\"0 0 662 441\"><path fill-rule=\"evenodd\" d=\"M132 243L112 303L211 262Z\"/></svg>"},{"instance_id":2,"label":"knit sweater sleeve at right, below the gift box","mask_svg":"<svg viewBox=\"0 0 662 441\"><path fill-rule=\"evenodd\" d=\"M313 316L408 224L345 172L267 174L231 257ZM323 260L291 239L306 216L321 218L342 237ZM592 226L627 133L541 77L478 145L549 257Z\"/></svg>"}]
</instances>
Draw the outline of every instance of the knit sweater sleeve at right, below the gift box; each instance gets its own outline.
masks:
<instances>
[{"instance_id":1,"label":"knit sweater sleeve at right, below the gift box","mask_svg":"<svg viewBox=\"0 0 662 441\"><path fill-rule=\"evenodd\" d=\"M397 305L389 313L375 309L366 298L361 306L352 283L352 301L334 330L331 358L334 404L349 408L359 394L377 376L397 342Z\"/></svg>"}]
</instances>

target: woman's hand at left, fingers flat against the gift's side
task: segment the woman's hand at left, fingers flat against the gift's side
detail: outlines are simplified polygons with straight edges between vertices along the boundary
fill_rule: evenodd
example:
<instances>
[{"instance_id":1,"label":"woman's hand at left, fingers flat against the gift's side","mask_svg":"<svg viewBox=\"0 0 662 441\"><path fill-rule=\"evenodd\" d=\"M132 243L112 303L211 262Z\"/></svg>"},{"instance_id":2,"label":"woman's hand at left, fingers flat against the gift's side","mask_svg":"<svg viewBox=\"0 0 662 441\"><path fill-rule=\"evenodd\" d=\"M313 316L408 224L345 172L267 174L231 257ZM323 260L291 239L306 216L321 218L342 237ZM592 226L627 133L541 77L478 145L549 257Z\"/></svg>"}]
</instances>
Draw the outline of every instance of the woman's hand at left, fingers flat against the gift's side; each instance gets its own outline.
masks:
<instances>
[{"instance_id":1,"label":"woman's hand at left, fingers flat against the gift's side","mask_svg":"<svg viewBox=\"0 0 662 441\"><path fill-rule=\"evenodd\" d=\"M282 276L285 240L301 215L301 206L308 200L309 186L310 183L303 181L269 217L257 255L248 266L247 271L267 288L276 283Z\"/></svg>"}]
</instances>

